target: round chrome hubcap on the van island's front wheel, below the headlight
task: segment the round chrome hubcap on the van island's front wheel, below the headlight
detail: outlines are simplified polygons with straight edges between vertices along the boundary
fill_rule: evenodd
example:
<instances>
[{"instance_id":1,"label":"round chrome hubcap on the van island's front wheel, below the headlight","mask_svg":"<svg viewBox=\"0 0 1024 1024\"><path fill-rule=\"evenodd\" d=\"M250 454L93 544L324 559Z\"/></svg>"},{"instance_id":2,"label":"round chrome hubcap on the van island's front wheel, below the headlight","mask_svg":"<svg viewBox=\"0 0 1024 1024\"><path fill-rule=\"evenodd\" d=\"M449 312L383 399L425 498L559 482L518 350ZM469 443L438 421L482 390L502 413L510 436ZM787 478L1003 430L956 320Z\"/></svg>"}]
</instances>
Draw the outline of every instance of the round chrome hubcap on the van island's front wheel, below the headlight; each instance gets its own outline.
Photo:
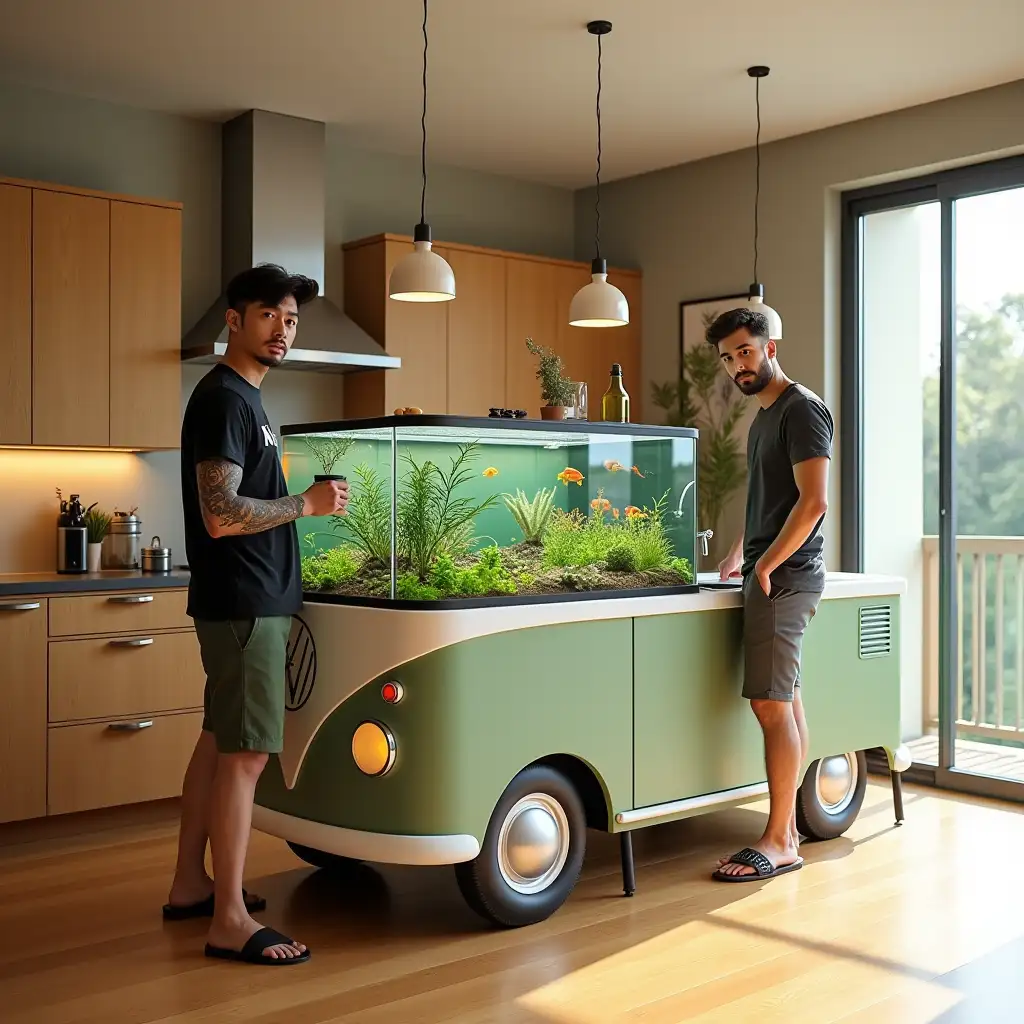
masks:
<instances>
[{"instance_id":1,"label":"round chrome hubcap on the van island's front wheel, below the headlight","mask_svg":"<svg viewBox=\"0 0 1024 1024\"><path fill-rule=\"evenodd\" d=\"M498 867L517 893L547 889L569 855L569 821L562 805L546 793L516 801L498 835Z\"/></svg>"}]
</instances>

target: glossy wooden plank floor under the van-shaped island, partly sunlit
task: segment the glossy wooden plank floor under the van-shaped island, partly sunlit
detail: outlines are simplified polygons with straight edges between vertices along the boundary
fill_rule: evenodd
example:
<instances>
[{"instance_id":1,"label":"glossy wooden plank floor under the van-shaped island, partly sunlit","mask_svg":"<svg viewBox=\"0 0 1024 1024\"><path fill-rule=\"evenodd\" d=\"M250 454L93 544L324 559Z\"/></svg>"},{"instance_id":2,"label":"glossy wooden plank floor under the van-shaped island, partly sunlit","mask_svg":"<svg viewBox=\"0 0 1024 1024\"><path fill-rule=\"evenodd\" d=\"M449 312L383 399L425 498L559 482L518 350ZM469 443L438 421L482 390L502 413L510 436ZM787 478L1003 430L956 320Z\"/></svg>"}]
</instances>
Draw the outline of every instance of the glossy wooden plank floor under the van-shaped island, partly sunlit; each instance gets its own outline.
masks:
<instances>
[{"instance_id":1,"label":"glossy wooden plank floor under the van-shaped island, partly sunlit","mask_svg":"<svg viewBox=\"0 0 1024 1024\"><path fill-rule=\"evenodd\" d=\"M563 909L492 931L450 869L331 879L255 836L247 885L308 943L304 966L202 955L205 926L160 916L172 823L0 848L4 1024L998 1024L1024 1015L1020 808L906 787L894 828L872 778L847 837L773 882L710 881L765 805L652 828L638 892L591 834ZM2 837L0 837L2 838ZM9 839L9 837L8 837ZM1000 866L1001 865L1001 866Z\"/></svg>"}]
</instances>

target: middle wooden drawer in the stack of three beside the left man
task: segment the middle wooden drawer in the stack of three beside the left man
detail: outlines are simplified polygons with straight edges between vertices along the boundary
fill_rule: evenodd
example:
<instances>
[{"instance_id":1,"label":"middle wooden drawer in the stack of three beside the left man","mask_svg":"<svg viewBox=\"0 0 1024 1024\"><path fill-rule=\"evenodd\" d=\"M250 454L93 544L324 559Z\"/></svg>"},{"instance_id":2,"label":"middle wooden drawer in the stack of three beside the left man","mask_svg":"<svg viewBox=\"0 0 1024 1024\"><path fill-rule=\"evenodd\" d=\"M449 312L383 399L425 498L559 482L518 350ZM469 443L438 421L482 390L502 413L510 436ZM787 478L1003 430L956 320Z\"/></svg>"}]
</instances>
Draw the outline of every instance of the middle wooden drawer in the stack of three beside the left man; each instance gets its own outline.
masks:
<instances>
[{"instance_id":1,"label":"middle wooden drawer in the stack of three beside the left man","mask_svg":"<svg viewBox=\"0 0 1024 1024\"><path fill-rule=\"evenodd\" d=\"M49 667L51 723L203 707L206 675L193 631L51 640Z\"/></svg>"}]
</instances>

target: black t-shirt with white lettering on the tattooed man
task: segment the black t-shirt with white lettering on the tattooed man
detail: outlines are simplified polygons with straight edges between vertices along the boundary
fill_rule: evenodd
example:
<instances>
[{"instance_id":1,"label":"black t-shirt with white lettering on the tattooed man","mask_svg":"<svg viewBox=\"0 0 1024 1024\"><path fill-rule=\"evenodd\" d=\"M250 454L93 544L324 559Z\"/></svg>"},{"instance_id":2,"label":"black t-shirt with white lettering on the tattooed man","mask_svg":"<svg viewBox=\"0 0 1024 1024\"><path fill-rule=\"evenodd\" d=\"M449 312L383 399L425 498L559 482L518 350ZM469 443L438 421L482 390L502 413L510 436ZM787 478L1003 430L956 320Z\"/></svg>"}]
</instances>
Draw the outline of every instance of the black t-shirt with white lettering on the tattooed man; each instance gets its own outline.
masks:
<instances>
[{"instance_id":1,"label":"black t-shirt with white lettering on the tattooed man","mask_svg":"<svg viewBox=\"0 0 1024 1024\"><path fill-rule=\"evenodd\" d=\"M227 459L242 467L239 495L272 500L288 494L278 438L259 388L218 364L196 385L181 425L181 497L194 618L292 615L302 606L298 530L294 522L259 534L212 538L203 523L196 467Z\"/></svg>"}]
</instances>

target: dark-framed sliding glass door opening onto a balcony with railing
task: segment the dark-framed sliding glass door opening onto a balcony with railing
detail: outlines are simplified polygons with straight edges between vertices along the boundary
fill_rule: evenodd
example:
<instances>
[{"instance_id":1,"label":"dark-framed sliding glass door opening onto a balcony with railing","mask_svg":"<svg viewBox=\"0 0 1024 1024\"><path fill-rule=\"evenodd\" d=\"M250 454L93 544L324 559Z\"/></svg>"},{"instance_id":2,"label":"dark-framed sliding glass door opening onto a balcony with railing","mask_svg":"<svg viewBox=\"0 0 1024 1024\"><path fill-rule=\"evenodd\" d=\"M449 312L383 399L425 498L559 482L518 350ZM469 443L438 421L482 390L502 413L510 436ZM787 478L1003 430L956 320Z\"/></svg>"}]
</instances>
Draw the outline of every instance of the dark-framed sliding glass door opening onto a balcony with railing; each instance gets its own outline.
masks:
<instances>
[{"instance_id":1,"label":"dark-framed sliding glass door opening onto a balcony with railing","mask_svg":"<svg viewBox=\"0 0 1024 1024\"><path fill-rule=\"evenodd\" d=\"M844 567L907 581L913 774L1024 800L1024 161L844 209Z\"/></svg>"}]
</instances>

